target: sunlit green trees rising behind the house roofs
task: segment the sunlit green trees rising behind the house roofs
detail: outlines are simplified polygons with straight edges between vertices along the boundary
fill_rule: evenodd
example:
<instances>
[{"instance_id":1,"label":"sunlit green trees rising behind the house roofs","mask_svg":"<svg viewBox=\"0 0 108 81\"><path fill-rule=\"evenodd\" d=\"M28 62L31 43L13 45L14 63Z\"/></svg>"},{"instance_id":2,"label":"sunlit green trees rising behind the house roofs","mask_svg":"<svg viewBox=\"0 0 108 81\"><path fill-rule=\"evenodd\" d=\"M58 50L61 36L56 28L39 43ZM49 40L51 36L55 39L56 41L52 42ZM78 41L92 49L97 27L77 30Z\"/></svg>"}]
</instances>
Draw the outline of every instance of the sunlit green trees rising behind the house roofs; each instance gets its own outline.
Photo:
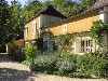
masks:
<instances>
[{"instance_id":1,"label":"sunlit green trees rising behind the house roofs","mask_svg":"<svg viewBox=\"0 0 108 81\"><path fill-rule=\"evenodd\" d=\"M79 2L72 0L46 0L44 2L40 2L39 0L28 0L27 4L23 8L22 13L26 17L26 22L28 22L41 10L52 4L57 11L69 17L89 9L94 2L95 0L81 0Z\"/></svg>"}]
</instances>

